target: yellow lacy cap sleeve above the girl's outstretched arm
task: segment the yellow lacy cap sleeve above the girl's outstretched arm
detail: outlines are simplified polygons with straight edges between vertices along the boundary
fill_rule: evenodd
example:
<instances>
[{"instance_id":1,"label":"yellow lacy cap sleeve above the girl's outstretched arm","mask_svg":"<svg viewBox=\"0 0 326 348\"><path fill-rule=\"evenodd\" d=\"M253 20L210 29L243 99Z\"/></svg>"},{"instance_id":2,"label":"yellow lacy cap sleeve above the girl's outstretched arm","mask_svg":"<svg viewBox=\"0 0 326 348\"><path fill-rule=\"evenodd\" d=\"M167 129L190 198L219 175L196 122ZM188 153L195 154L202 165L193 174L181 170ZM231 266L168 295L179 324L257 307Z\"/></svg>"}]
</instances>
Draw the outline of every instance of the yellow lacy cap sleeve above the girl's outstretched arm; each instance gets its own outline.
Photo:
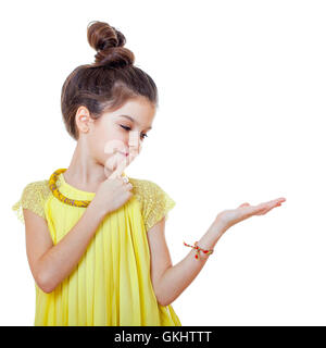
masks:
<instances>
[{"instance_id":1,"label":"yellow lacy cap sleeve above the girl's outstretched arm","mask_svg":"<svg viewBox=\"0 0 326 348\"><path fill-rule=\"evenodd\" d=\"M168 211L176 204L174 199L152 181L129 177L129 182L131 192L140 201L146 229L149 231L163 216L167 220Z\"/></svg>"}]
</instances>

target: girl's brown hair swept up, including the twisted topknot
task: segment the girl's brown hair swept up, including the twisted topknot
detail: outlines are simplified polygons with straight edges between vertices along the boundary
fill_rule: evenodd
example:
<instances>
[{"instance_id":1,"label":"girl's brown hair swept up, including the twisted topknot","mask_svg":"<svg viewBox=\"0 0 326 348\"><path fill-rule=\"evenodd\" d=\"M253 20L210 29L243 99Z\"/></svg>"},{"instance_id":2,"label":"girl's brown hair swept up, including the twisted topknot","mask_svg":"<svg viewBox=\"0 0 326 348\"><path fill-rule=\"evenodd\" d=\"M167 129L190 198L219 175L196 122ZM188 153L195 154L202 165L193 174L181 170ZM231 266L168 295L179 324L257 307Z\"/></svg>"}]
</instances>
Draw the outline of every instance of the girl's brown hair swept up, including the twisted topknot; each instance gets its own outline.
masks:
<instances>
[{"instance_id":1,"label":"girl's brown hair swept up, including the twisted topknot","mask_svg":"<svg viewBox=\"0 0 326 348\"><path fill-rule=\"evenodd\" d=\"M125 36L108 23L92 21L87 39L97 51L92 64L77 66L61 90L61 111L68 134L78 140L75 115L80 105L90 116L121 108L128 99L142 96L158 107L158 88L153 79L134 65L135 55L127 48Z\"/></svg>"}]
</instances>

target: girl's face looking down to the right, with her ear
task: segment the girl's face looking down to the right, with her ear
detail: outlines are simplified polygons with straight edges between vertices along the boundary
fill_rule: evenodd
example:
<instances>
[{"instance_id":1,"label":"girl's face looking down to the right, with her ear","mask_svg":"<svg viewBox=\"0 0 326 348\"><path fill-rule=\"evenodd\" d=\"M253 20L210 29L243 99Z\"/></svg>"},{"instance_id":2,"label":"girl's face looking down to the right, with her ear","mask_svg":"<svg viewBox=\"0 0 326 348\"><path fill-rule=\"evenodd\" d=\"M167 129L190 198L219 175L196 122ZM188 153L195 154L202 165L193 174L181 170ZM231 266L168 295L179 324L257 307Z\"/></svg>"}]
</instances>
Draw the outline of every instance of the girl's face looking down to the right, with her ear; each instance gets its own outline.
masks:
<instances>
[{"instance_id":1,"label":"girl's face looking down to the right, with her ear","mask_svg":"<svg viewBox=\"0 0 326 348\"><path fill-rule=\"evenodd\" d=\"M121 160L128 162L140 152L147 133L152 127L155 108L147 98L136 97L122 108L103 113L98 120L90 119L84 107L78 109L78 113L85 115L82 119L77 116L77 120L82 120L79 122L85 122L79 127L77 121L78 141L83 139L87 144L88 156L112 172Z\"/></svg>"}]
</instances>

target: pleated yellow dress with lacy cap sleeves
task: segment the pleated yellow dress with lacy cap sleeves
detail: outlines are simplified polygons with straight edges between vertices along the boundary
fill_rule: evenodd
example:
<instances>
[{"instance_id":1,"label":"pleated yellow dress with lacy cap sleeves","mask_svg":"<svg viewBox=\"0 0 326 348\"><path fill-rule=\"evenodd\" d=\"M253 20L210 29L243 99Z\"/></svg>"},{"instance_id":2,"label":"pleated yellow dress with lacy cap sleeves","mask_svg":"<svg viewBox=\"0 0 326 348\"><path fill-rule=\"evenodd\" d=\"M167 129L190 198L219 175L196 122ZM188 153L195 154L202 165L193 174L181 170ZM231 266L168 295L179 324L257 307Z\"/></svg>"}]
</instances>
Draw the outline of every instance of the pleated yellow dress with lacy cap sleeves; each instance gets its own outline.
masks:
<instances>
[{"instance_id":1,"label":"pleated yellow dress with lacy cap sleeves","mask_svg":"<svg viewBox=\"0 0 326 348\"><path fill-rule=\"evenodd\" d=\"M35 282L35 326L181 326L171 304L161 306L150 277L147 233L175 206L155 183L131 178L134 196L100 223L75 270L52 293ZM66 197L91 200L64 179L57 186ZM87 208L53 196L48 179L25 186L12 207L24 223L23 208L47 220L53 244L77 223Z\"/></svg>"}]
</instances>

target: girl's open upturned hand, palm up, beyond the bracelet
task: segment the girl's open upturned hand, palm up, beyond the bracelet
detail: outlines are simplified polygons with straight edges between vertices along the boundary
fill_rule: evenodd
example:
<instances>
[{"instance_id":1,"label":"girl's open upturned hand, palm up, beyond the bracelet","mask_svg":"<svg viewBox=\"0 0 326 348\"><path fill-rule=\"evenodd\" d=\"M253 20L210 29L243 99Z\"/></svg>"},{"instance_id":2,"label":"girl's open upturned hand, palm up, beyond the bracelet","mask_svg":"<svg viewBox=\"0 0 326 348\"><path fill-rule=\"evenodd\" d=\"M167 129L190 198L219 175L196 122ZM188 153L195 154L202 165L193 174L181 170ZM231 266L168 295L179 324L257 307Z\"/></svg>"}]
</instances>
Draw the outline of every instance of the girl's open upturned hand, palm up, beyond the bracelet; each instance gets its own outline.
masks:
<instances>
[{"instance_id":1,"label":"girl's open upturned hand, palm up, beyond the bracelet","mask_svg":"<svg viewBox=\"0 0 326 348\"><path fill-rule=\"evenodd\" d=\"M237 209L228 209L222 211L215 219L214 224L222 226L225 232L233 225L243 221L253 215L264 215L275 207L280 207L286 199L284 197L260 203L258 206L250 206L248 202L242 203Z\"/></svg>"}]
</instances>

